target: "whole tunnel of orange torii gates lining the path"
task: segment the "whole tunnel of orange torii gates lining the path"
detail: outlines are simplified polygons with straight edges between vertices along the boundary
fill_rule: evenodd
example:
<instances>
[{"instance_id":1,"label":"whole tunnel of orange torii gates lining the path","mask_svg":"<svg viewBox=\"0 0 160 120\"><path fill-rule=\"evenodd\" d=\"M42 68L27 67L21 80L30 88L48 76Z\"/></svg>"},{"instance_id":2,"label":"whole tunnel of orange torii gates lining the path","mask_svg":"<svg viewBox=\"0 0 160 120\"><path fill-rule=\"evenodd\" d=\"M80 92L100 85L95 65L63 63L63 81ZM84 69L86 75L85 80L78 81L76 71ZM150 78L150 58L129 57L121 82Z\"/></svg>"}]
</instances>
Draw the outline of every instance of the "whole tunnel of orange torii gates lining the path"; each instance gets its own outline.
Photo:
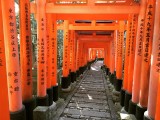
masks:
<instances>
[{"instance_id":1,"label":"whole tunnel of orange torii gates lining the path","mask_svg":"<svg viewBox=\"0 0 160 120\"><path fill-rule=\"evenodd\" d=\"M124 109L138 120L143 116L160 120L160 0L95 1L58 4L55 0L19 0L19 60L14 0L0 0L0 120L31 120L36 106L51 105L58 99L58 29L64 32L63 90L96 57L104 58L103 67L115 89L121 91ZM38 38L36 98L32 96L31 13L37 21ZM57 25L57 20L64 22ZM98 35L97 31L111 34Z\"/></svg>"}]
</instances>

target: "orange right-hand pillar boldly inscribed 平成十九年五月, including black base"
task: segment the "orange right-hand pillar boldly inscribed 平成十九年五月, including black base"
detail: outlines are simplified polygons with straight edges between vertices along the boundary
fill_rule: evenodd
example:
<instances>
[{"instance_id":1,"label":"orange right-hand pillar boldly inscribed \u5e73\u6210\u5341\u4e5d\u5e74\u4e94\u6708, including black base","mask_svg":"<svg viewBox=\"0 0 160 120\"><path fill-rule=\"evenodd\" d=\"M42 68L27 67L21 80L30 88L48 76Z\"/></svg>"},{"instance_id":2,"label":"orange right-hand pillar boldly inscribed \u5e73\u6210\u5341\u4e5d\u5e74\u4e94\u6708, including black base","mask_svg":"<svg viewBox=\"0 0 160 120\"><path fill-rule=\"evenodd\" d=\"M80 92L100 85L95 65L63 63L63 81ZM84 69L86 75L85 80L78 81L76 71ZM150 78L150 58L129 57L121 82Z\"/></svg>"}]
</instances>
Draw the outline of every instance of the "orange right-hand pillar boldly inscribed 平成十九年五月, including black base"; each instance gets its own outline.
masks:
<instances>
[{"instance_id":1,"label":"orange right-hand pillar boldly inscribed \u5e73\u6210\u5341\u4e5d\u5e74\u4e94\u6708, including black base","mask_svg":"<svg viewBox=\"0 0 160 120\"><path fill-rule=\"evenodd\" d=\"M136 118L138 120L143 119L144 111L146 111L148 105L149 75L150 75L150 65L151 65L151 51L152 51L153 26L154 26L154 14L155 14L154 9L155 9L155 0L148 1L146 16L145 16L144 37L143 37L139 105L137 105L136 107Z\"/></svg>"}]
</instances>

